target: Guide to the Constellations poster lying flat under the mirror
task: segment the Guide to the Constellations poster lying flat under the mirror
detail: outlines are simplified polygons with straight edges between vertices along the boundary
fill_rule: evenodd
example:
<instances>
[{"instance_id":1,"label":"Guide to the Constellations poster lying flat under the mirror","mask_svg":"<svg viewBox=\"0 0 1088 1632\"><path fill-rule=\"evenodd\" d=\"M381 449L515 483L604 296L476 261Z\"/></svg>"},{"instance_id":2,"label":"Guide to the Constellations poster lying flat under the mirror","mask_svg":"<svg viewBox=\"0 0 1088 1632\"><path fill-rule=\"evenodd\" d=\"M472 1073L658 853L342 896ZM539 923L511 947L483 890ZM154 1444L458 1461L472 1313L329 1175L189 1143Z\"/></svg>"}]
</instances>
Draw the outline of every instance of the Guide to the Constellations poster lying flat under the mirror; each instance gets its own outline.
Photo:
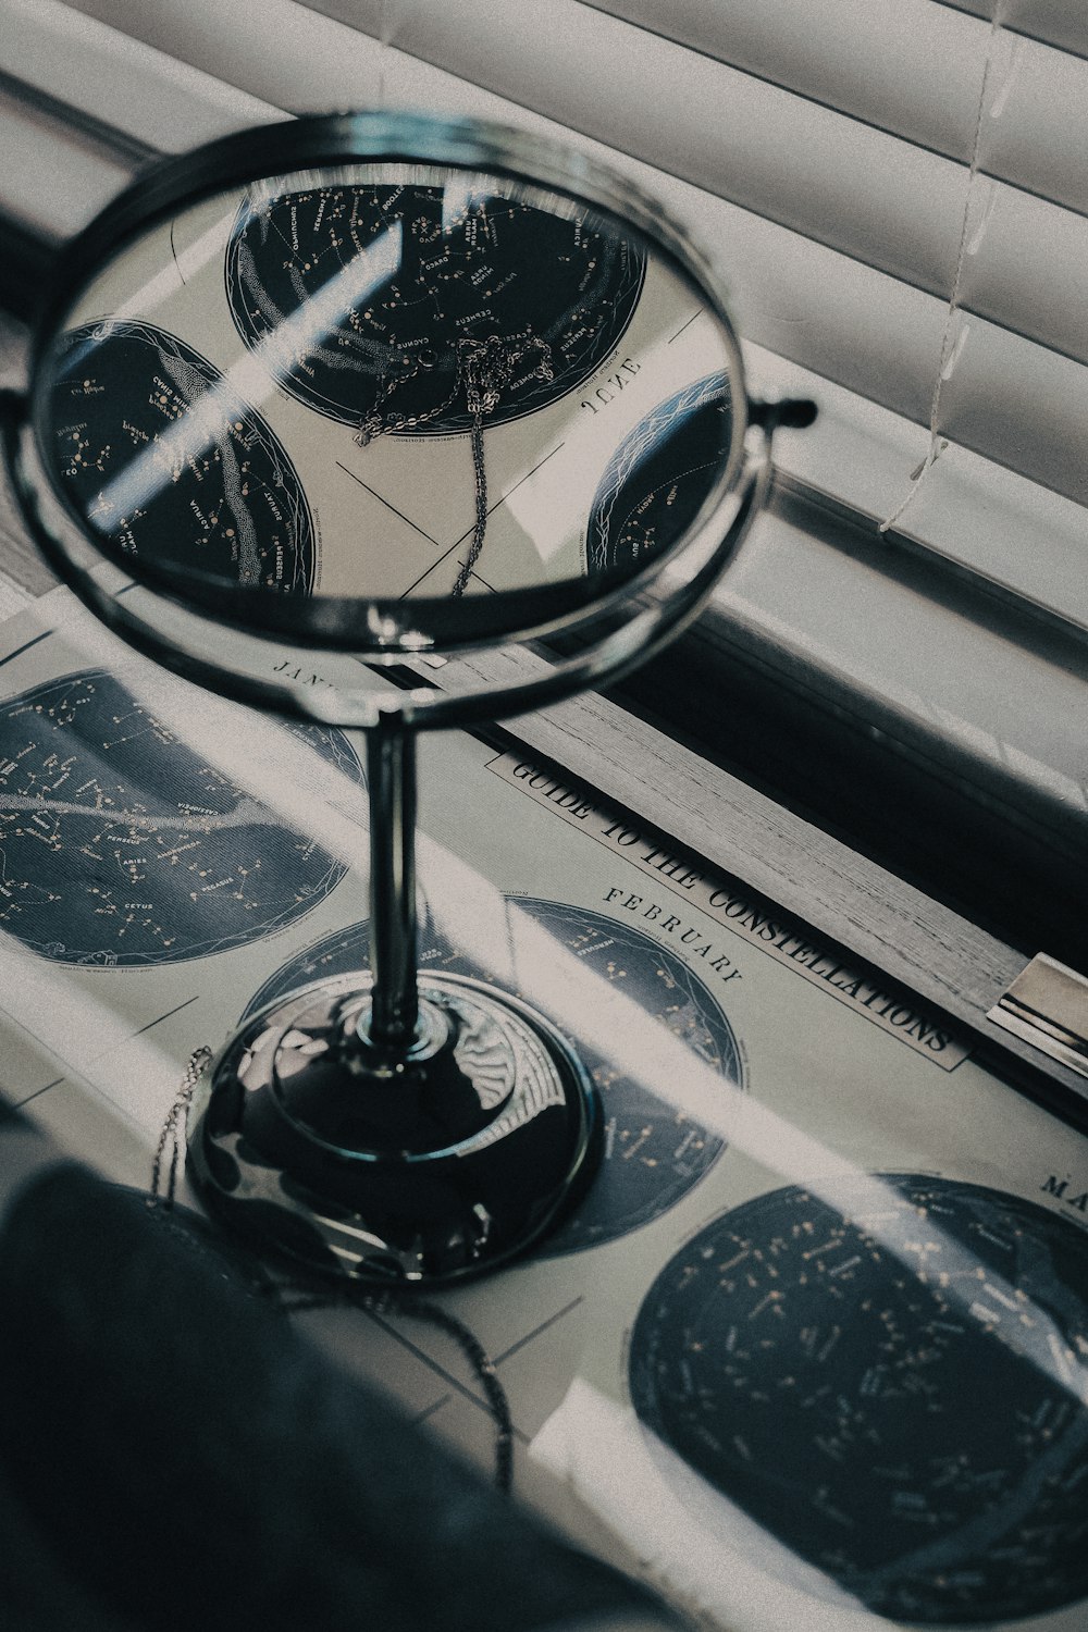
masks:
<instances>
[{"instance_id":1,"label":"Guide to the Constellations poster lying flat under the mirror","mask_svg":"<svg viewBox=\"0 0 1088 1632\"><path fill-rule=\"evenodd\" d=\"M64 591L0 625L5 1097L147 1186L192 1049L365 963L365 854L351 733L215 700ZM515 752L422 744L419 889L421 978L535 1002L605 1108L561 1232L439 1299L496 1361L519 1497L706 1627L1083 1627L1083 1138ZM299 1319L488 1469L440 1332Z\"/></svg>"}]
</instances>

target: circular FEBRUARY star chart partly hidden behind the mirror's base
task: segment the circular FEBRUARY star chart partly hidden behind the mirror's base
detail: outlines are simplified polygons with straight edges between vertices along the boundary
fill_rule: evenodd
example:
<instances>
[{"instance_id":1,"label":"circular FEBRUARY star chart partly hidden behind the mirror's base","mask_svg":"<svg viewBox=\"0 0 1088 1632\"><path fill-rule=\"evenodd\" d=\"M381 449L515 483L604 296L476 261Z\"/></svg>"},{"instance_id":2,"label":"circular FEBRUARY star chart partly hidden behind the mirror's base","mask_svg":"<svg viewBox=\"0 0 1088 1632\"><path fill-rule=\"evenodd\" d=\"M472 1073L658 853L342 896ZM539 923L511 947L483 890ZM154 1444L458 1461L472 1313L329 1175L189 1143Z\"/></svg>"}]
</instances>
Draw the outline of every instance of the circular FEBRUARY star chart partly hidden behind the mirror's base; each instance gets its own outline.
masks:
<instances>
[{"instance_id":1,"label":"circular FEBRUARY star chart partly hidden behind the mirror's base","mask_svg":"<svg viewBox=\"0 0 1088 1632\"><path fill-rule=\"evenodd\" d=\"M741 1053L718 1000L677 953L649 935L602 912L558 901L519 896L514 906L550 930L589 968L620 982L646 1013L682 1038L697 1058L732 1082L741 1080ZM365 968L365 924L328 935L277 969L253 997L245 1018L264 1004L310 981ZM427 969L493 978L426 922L419 934L419 981ZM532 991L517 996L533 1002ZM571 1219L548 1239L545 1252L579 1252L626 1235L675 1206L714 1164L724 1141L687 1118L667 1098L635 1084L599 1048L574 1040L597 1087L605 1113L605 1160Z\"/></svg>"}]
</instances>

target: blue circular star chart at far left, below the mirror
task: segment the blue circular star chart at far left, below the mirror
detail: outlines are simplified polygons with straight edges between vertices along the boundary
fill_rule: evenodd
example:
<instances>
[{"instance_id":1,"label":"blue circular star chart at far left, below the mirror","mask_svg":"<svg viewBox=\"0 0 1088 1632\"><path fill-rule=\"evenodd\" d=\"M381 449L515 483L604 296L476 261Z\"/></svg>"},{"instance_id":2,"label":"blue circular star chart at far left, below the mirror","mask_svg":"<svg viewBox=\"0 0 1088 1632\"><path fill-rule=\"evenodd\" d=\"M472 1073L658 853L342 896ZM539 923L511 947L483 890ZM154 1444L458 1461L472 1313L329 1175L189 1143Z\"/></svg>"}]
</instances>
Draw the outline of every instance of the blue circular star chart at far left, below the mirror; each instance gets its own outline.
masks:
<instances>
[{"instance_id":1,"label":"blue circular star chart at far left, below the mirror","mask_svg":"<svg viewBox=\"0 0 1088 1632\"><path fill-rule=\"evenodd\" d=\"M284 730L362 778L339 731ZM297 922L344 873L111 674L0 705L0 929L44 958L139 968L227 951Z\"/></svg>"}]
</instances>

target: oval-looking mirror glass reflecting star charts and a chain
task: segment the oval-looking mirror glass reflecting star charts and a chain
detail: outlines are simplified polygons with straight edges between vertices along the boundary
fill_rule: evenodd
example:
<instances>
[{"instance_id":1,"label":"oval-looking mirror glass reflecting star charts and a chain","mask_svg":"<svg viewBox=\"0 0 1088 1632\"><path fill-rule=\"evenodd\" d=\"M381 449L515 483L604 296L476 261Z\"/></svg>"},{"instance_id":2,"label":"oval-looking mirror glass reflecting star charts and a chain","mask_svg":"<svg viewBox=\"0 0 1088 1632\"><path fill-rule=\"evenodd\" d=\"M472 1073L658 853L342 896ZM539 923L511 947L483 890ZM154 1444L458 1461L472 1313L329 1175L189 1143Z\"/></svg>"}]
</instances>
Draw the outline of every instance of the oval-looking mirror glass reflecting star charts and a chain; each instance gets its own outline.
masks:
<instances>
[{"instance_id":1,"label":"oval-looking mirror glass reflecting star charts and a chain","mask_svg":"<svg viewBox=\"0 0 1088 1632\"><path fill-rule=\"evenodd\" d=\"M39 361L38 450L98 548L183 596L586 597L719 494L737 374L693 279L604 211L367 162L129 237Z\"/></svg>"}]
</instances>

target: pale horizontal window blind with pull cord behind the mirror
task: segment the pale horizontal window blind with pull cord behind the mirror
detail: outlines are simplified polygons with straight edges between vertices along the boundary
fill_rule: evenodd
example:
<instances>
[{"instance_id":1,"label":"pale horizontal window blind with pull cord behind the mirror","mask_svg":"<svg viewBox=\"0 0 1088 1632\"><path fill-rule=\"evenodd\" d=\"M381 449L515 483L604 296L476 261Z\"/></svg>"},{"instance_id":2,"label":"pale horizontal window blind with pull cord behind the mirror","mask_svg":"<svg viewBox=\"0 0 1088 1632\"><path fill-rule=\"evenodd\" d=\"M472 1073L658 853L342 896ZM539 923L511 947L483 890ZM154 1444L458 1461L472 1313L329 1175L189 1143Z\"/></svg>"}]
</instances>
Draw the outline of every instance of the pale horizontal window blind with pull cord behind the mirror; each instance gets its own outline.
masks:
<instances>
[{"instance_id":1,"label":"pale horizontal window blind with pull cord behind the mirror","mask_svg":"<svg viewBox=\"0 0 1088 1632\"><path fill-rule=\"evenodd\" d=\"M776 439L793 488L693 640L745 653L1041 842L1075 832L1083 849L1070 721L1088 632L1088 149L1070 132L1088 13L1083 0L1000 3L993 29L985 5L940 0L0 0L0 214L15 193L16 217L73 230L119 184L109 132L132 157L284 113L388 104L573 137L664 196L729 269L755 387L820 403L814 428ZM762 140L723 135L742 95L726 77L762 106ZM768 121L767 96L789 114ZM65 131L65 108L98 121L101 150ZM65 142L83 147L80 166ZM896 162L881 168L878 149ZM825 180L820 152L845 173ZM949 323L964 201L972 253ZM1029 224L1013 253L998 228L1033 209L1052 233ZM933 439L935 379L961 323ZM892 514L897 547L881 550Z\"/></svg>"}]
</instances>

